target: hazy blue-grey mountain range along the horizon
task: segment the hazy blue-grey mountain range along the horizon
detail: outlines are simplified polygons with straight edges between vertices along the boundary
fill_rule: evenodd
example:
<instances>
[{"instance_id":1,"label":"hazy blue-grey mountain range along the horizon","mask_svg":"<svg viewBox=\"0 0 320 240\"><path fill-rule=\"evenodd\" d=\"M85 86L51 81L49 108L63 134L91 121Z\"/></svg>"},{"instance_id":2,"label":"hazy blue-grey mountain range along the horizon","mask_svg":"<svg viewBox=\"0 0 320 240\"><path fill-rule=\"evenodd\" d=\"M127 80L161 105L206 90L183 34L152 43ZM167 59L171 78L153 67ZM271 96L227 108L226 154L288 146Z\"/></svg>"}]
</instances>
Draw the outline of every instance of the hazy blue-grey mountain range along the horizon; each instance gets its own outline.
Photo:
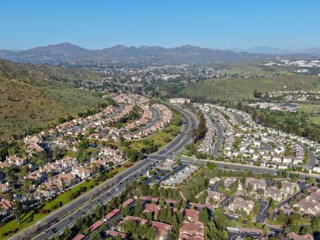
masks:
<instances>
[{"instance_id":1,"label":"hazy blue-grey mountain range along the horizon","mask_svg":"<svg viewBox=\"0 0 320 240\"><path fill-rule=\"evenodd\" d=\"M320 48L308 49L295 54L320 56ZM274 58L278 54L291 54L271 47L253 47L251 49L219 50L183 45L164 48L158 46L114 47L88 50L71 43L60 43L46 47L35 47L25 51L0 50L0 58L16 62L39 62L45 64L65 62L162 62L162 63L205 63L240 62Z\"/></svg>"}]
</instances>

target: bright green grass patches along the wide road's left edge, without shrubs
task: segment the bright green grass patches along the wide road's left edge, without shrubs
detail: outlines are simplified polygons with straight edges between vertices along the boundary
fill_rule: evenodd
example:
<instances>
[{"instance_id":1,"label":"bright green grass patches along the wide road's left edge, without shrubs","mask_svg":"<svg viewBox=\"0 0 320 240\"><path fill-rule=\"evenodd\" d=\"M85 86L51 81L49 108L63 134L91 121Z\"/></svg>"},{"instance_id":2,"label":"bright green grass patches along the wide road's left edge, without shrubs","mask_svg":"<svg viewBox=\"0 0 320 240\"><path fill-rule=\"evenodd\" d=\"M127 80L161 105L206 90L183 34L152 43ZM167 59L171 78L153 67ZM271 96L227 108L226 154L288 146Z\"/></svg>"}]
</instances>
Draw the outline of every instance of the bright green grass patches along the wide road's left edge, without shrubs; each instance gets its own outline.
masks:
<instances>
[{"instance_id":1,"label":"bright green grass patches along the wide road's left edge, without shrubs","mask_svg":"<svg viewBox=\"0 0 320 240\"><path fill-rule=\"evenodd\" d=\"M126 162L126 164L130 164L130 163L131 162ZM124 165L121 165L119 167L116 167L115 169L112 169L112 171L108 173L108 176L109 176L108 179L110 179L110 177L114 176L115 174L121 173L125 169L127 168ZM40 206L40 208L38 208L38 210L32 210L32 211L29 211L29 213L22 215L20 217L20 225L16 224L15 220L9 221L7 224L1 226L0 239L7 239L8 237L11 236L11 234L8 236L4 236L3 234L5 234L6 232L10 232L14 228L19 228L19 231L21 231L31 226L32 224L35 224L37 221L40 221L41 219L43 219L44 217L50 214L50 213L47 213L47 214L38 213L40 209L49 209L51 213L53 213L54 211L58 210L58 208L53 209L53 206L58 205L59 202L60 202L60 206L65 206L66 204L69 204L72 201L71 195L79 191L81 187L86 187L86 192L93 189L93 187L97 187L102 182L96 181L96 179L97 178L91 178L88 182L85 182L85 181L81 182L80 184L77 184L75 187L72 187L70 191L65 191L64 193L58 195L58 197L56 197L54 200L50 202L45 202L44 204L42 204L42 206Z\"/></svg>"}]
</instances>

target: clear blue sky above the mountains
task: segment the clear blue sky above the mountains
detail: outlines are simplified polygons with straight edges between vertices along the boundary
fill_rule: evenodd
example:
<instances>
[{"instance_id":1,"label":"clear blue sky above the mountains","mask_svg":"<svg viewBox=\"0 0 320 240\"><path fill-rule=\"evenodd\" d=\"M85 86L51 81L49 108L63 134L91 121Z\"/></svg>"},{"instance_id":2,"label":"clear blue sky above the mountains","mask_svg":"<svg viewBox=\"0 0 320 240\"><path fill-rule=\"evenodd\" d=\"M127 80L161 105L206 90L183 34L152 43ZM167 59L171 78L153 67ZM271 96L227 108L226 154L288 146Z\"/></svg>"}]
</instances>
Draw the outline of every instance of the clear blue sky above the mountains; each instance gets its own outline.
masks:
<instances>
[{"instance_id":1,"label":"clear blue sky above the mountains","mask_svg":"<svg viewBox=\"0 0 320 240\"><path fill-rule=\"evenodd\" d=\"M0 49L69 42L217 49L320 47L319 0L3 0Z\"/></svg>"}]
</instances>

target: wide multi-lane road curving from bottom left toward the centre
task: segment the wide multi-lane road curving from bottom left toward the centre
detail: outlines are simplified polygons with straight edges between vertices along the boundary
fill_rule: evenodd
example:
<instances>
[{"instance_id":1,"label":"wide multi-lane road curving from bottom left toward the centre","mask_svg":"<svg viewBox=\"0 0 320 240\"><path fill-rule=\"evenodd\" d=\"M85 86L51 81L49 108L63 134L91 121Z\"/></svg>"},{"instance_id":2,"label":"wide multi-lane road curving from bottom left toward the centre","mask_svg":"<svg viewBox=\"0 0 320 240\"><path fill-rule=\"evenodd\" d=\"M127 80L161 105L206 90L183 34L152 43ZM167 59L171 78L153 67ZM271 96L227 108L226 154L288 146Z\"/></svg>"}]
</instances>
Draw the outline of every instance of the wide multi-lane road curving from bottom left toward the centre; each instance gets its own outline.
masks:
<instances>
[{"instance_id":1,"label":"wide multi-lane road curving from bottom left toward the centre","mask_svg":"<svg viewBox=\"0 0 320 240\"><path fill-rule=\"evenodd\" d=\"M178 106L174 106L176 110L182 113L184 125L180 134L178 134L171 143L160 149L156 154L148 156L146 159L136 163L136 165L119 173L114 178L103 182L100 186L79 196L70 204L63 206L58 211L41 220L39 226L35 224L22 230L14 235L10 240L32 238L45 228L45 231L34 237L36 240L49 239L54 235L62 232L66 226L72 226L76 218L82 217L84 214L93 211L97 204L104 204L112 197L118 195L125 189L125 186L134 180L138 180L140 176L144 176L147 171L160 164L161 160L165 160L169 156L174 156L177 152L184 149L184 146L192 140L192 133L197 128L197 119L188 110L184 110Z\"/></svg>"}]
</instances>

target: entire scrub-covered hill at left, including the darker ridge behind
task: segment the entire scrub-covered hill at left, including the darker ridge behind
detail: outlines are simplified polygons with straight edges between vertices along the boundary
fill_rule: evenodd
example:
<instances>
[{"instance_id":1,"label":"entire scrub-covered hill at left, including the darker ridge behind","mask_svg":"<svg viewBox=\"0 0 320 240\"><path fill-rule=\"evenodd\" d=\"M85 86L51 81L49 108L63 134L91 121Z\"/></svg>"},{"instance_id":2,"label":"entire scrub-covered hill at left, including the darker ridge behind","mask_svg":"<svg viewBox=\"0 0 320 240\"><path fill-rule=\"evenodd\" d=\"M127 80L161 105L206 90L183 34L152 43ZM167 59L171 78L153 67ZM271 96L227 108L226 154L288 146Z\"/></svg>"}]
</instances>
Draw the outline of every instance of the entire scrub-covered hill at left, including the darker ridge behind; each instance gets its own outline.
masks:
<instances>
[{"instance_id":1,"label":"entire scrub-covered hill at left, including the darker ridge behind","mask_svg":"<svg viewBox=\"0 0 320 240\"><path fill-rule=\"evenodd\" d=\"M46 128L58 117L106 103L90 91L73 87L84 80L78 69L19 64L0 60L0 140Z\"/></svg>"}]
</instances>

